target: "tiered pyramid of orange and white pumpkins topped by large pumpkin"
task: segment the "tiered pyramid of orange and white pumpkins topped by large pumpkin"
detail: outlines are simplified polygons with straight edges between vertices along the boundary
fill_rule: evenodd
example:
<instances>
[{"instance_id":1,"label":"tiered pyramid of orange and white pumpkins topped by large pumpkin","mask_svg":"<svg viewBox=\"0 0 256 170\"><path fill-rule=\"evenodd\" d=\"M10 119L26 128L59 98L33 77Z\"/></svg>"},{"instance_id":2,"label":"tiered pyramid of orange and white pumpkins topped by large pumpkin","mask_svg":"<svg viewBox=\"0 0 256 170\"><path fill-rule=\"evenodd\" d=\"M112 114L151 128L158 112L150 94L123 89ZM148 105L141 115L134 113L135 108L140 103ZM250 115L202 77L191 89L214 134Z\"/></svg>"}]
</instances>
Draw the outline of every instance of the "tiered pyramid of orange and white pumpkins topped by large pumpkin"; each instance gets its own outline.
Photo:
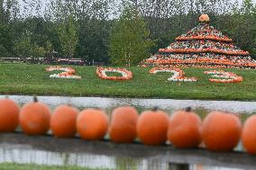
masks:
<instances>
[{"instance_id":1,"label":"tiered pyramid of orange and white pumpkins topped by large pumpkin","mask_svg":"<svg viewBox=\"0 0 256 170\"><path fill-rule=\"evenodd\" d=\"M166 49L142 61L142 67L247 67L256 68L248 51L233 45L232 39L209 25L202 14L200 23L182 34Z\"/></svg>"}]
</instances>

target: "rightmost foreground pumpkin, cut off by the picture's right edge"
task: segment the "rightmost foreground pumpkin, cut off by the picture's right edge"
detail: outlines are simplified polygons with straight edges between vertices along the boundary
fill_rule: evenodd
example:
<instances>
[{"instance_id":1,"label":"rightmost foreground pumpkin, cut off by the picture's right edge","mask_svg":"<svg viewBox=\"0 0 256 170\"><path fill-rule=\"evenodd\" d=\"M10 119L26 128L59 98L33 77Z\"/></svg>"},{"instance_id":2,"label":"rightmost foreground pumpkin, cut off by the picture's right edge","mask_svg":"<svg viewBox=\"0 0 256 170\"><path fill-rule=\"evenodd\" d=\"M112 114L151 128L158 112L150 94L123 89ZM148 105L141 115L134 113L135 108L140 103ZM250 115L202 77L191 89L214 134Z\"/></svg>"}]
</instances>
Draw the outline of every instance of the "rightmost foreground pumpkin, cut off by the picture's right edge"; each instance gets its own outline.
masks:
<instances>
[{"instance_id":1,"label":"rightmost foreground pumpkin, cut off by the picture's right edge","mask_svg":"<svg viewBox=\"0 0 256 170\"><path fill-rule=\"evenodd\" d=\"M256 115L248 118L242 129L242 146L251 154L256 154Z\"/></svg>"}]
</instances>

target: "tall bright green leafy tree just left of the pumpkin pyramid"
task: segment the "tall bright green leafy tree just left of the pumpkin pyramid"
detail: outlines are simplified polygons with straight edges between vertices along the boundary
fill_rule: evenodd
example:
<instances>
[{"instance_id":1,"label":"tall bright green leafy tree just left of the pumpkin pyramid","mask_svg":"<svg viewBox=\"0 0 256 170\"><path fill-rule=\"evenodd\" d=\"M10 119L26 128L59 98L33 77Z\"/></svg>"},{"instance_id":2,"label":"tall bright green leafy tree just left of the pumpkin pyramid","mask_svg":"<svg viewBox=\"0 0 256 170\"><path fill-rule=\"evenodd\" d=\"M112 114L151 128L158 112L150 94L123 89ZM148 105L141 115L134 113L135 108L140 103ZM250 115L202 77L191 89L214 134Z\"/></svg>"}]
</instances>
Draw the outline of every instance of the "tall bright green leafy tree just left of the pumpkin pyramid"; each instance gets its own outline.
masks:
<instances>
[{"instance_id":1,"label":"tall bright green leafy tree just left of the pumpkin pyramid","mask_svg":"<svg viewBox=\"0 0 256 170\"><path fill-rule=\"evenodd\" d=\"M129 3L123 5L123 13L111 31L110 57L114 65L136 66L150 56L154 43L149 40L150 32L137 9Z\"/></svg>"}]
</instances>

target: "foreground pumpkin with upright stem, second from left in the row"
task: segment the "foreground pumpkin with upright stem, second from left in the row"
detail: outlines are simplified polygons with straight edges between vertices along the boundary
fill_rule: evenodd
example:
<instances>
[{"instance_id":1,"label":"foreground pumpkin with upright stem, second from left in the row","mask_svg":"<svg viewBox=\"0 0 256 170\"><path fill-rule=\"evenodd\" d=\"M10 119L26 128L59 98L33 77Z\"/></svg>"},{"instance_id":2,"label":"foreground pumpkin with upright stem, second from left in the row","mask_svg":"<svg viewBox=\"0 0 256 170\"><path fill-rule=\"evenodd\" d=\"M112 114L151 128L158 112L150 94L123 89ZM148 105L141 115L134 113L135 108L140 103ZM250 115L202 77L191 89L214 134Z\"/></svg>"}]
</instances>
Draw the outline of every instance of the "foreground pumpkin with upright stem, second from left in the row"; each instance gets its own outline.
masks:
<instances>
[{"instance_id":1,"label":"foreground pumpkin with upright stem, second from left in the row","mask_svg":"<svg viewBox=\"0 0 256 170\"><path fill-rule=\"evenodd\" d=\"M32 103L23 105L19 121L25 134L43 135L50 128L50 109L34 97Z\"/></svg>"}]
</instances>

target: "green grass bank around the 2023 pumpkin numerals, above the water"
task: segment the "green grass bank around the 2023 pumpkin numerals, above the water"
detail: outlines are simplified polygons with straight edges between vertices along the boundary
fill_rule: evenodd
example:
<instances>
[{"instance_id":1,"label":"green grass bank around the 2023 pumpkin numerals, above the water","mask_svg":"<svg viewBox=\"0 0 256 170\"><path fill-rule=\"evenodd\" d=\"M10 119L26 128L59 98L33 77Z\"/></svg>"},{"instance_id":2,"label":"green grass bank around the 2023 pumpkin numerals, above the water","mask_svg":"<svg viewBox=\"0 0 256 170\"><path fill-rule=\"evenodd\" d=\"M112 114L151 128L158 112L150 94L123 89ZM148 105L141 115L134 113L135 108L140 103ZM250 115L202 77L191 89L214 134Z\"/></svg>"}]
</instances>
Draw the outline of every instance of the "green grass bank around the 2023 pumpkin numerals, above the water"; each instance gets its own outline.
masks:
<instances>
[{"instance_id":1,"label":"green grass bank around the 2023 pumpkin numerals, above the water","mask_svg":"<svg viewBox=\"0 0 256 170\"><path fill-rule=\"evenodd\" d=\"M138 98L172 98L200 100L256 100L256 70L225 69L243 76L238 84L211 83L204 71L211 69L186 68L186 76L196 76L198 82L169 82L169 73L151 75L151 68L129 67L133 79L128 81L102 80L96 67L74 67L81 80L50 78L46 65L0 64L1 94L37 94L72 96L114 96Z\"/></svg>"}]
</instances>

